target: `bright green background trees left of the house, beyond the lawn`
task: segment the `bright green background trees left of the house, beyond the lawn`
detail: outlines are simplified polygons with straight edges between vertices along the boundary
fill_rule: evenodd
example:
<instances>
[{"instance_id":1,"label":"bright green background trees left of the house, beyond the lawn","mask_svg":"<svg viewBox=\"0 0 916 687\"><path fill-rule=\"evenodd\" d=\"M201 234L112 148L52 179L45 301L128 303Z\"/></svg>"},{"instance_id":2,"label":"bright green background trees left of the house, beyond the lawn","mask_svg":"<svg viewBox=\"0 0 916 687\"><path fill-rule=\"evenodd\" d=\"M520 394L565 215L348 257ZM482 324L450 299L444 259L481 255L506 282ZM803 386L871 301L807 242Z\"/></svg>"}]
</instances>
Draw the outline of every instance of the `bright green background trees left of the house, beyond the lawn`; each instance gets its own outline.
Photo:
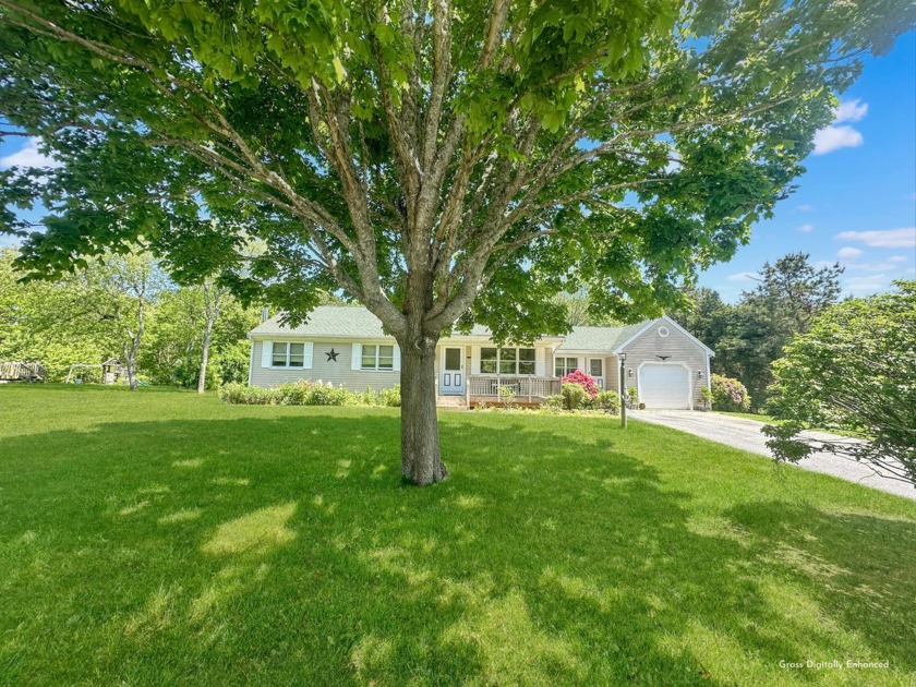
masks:
<instances>
[{"instance_id":1,"label":"bright green background trees left of the house, beyond the lawn","mask_svg":"<svg viewBox=\"0 0 916 687\"><path fill-rule=\"evenodd\" d=\"M131 386L203 390L248 378L245 335L260 310L215 280L179 286L140 253L86 261L57 281L23 282L15 256L15 249L0 249L0 360L40 361L53 381L74 363L112 357Z\"/></svg>"}]
</instances>

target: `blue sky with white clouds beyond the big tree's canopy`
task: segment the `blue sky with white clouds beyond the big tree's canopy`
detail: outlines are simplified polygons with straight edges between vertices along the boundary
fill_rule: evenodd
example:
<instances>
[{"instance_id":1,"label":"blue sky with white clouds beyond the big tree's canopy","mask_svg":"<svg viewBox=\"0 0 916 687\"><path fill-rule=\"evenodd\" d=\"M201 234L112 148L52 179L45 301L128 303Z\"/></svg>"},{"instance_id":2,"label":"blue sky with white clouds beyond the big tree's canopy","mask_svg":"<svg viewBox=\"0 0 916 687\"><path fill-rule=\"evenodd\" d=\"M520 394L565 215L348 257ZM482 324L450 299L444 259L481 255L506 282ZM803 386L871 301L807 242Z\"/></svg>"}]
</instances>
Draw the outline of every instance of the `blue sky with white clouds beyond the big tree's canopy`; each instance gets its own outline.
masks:
<instances>
[{"instance_id":1,"label":"blue sky with white clouds beyond the big tree's canopy","mask_svg":"<svg viewBox=\"0 0 916 687\"><path fill-rule=\"evenodd\" d=\"M845 265L845 294L916 278L916 34L901 38L889 56L866 60L842 96L837 121L817 143L798 191L754 228L730 263L702 274L701 286L733 302L754 287L764 262L796 251L815 263ZM0 168L44 161L33 141L0 144ZM0 245L12 242L0 237Z\"/></svg>"}]
</instances>

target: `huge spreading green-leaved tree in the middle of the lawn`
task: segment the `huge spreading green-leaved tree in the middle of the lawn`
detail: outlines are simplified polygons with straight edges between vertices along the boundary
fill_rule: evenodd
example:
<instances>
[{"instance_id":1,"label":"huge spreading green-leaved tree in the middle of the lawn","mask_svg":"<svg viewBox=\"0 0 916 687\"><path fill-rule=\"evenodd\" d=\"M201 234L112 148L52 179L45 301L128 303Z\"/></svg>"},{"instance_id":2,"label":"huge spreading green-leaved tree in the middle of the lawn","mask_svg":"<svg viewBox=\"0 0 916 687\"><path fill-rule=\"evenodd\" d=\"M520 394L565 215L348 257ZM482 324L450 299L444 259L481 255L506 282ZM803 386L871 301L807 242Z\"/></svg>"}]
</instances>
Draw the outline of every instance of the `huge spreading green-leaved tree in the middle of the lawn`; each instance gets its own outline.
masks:
<instances>
[{"instance_id":1,"label":"huge spreading green-leaved tree in the middle of the lawn","mask_svg":"<svg viewBox=\"0 0 916 687\"><path fill-rule=\"evenodd\" d=\"M583 289L622 321L676 304L912 25L903 0L0 0L0 114L61 165L0 197L49 208L21 257L43 275L144 237L290 323L363 303L430 484L444 334L561 333L552 297Z\"/></svg>"}]
</instances>

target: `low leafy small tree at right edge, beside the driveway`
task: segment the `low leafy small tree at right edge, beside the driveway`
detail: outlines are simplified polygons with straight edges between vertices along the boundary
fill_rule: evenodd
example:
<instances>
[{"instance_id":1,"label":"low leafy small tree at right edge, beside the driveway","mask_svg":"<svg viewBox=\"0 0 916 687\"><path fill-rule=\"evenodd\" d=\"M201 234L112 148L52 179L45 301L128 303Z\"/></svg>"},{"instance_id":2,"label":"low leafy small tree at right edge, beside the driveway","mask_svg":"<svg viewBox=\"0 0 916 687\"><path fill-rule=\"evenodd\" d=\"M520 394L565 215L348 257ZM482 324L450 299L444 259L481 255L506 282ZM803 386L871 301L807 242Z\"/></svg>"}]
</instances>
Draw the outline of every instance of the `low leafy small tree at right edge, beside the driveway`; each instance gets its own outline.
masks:
<instances>
[{"instance_id":1,"label":"low leafy small tree at right edge, beside the driveway","mask_svg":"<svg viewBox=\"0 0 916 687\"><path fill-rule=\"evenodd\" d=\"M773 363L785 423L763 431L778 460L832 450L916 485L916 281L895 284L830 308ZM815 441L808 426L856 438Z\"/></svg>"}]
</instances>

